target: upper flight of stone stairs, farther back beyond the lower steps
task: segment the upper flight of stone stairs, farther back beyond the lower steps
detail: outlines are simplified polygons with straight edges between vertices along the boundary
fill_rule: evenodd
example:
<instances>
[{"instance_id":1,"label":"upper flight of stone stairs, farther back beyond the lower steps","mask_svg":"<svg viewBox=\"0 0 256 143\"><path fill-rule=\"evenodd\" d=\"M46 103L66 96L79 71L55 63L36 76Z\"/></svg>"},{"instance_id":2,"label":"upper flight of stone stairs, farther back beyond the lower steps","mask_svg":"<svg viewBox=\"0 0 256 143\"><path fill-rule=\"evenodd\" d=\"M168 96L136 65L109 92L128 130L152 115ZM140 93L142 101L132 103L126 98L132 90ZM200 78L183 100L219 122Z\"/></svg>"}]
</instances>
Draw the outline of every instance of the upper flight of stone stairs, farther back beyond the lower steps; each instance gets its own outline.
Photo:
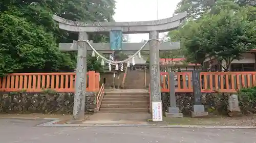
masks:
<instances>
[{"instance_id":1,"label":"upper flight of stone stairs, farther back beyond the lower steps","mask_svg":"<svg viewBox=\"0 0 256 143\"><path fill-rule=\"evenodd\" d=\"M144 89L145 88L145 72L143 70L128 69L124 89Z\"/></svg>"}]
</instances>

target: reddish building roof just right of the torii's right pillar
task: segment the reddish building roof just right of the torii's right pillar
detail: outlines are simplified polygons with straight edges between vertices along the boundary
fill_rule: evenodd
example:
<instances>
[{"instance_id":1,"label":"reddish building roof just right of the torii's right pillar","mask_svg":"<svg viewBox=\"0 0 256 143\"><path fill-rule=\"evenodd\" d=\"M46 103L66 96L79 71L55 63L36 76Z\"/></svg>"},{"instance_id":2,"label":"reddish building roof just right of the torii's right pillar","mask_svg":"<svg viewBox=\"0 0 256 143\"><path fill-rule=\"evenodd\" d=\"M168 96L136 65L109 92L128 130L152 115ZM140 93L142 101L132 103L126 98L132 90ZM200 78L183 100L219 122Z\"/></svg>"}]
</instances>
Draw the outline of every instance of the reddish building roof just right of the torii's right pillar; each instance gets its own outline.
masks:
<instances>
[{"instance_id":1,"label":"reddish building roof just right of the torii's right pillar","mask_svg":"<svg viewBox=\"0 0 256 143\"><path fill-rule=\"evenodd\" d=\"M255 49L256 50L256 49ZM160 59L160 65L165 65L165 60L167 64L172 65L184 65L184 62L186 62L185 58L162 58ZM187 63L188 66L201 66L201 64L193 64L193 63Z\"/></svg>"}]
</instances>

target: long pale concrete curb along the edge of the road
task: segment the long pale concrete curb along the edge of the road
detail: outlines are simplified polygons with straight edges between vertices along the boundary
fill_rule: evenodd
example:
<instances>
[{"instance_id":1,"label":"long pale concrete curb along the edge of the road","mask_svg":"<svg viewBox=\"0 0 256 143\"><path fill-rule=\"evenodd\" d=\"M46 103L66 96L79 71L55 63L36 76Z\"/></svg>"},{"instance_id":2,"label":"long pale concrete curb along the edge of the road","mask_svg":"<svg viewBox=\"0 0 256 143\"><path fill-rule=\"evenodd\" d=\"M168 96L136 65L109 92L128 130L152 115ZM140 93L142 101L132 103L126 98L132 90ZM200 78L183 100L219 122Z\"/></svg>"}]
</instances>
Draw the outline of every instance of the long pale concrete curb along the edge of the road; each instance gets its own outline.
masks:
<instances>
[{"instance_id":1,"label":"long pale concrete curb along the edge of the road","mask_svg":"<svg viewBox=\"0 0 256 143\"><path fill-rule=\"evenodd\" d=\"M164 127L164 128L219 128L219 129L256 129L252 126L199 126L199 125L158 125L158 124L54 124L59 122L56 118L45 118L53 120L37 126L41 127Z\"/></svg>"}]
</instances>

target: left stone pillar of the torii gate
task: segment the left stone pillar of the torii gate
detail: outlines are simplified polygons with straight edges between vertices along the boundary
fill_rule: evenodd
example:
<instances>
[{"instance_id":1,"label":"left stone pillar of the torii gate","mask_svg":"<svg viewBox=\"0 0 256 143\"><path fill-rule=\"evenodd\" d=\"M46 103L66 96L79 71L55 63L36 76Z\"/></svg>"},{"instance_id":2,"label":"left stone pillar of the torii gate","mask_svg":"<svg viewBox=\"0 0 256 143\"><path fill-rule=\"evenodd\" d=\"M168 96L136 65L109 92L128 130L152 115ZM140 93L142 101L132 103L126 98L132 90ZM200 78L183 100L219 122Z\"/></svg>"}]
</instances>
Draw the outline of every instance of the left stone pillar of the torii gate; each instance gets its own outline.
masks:
<instances>
[{"instance_id":1,"label":"left stone pillar of the torii gate","mask_svg":"<svg viewBox=\"0 0 256 143\"><path fill-rule=\"evenodd\" d=\"M86 32L79 32L79 40L88 40L88 34ZM73 120L84 119L87 84L87 46L86 42L78 41Z\"/></svg>"}]
</instances>

